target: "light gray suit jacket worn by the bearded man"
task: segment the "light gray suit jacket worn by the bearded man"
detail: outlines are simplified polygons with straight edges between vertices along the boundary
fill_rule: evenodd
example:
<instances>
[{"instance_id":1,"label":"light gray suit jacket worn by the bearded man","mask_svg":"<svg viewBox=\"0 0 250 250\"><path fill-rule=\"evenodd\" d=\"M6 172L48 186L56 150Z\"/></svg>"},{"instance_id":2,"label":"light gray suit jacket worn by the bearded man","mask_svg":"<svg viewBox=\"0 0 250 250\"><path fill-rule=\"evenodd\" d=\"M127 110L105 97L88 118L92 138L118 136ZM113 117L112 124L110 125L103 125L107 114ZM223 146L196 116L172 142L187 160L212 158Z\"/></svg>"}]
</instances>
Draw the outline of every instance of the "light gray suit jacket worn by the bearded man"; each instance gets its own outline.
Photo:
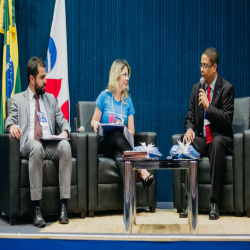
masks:
<instances>
[{"instance_id":1,"label":"light gray suit jacket worn by the bearded man","mask_svg":"<svg viewBox=\"0 0 250 250\"><path fill-rule=\"evenodd\" d=\"M57 128L61 132L66 130L70 136L70 125L64 118L55 97L52 94L45 93L42 95L42 99L52 135L56 134ZM21 128L22 137L20 140L20 148L22 148L29 137L30 101L28 89L13 96L10 113L6 119L4 131L9 133L10 126L13 124L19 125Z\"/></svg>"}]
</instances>

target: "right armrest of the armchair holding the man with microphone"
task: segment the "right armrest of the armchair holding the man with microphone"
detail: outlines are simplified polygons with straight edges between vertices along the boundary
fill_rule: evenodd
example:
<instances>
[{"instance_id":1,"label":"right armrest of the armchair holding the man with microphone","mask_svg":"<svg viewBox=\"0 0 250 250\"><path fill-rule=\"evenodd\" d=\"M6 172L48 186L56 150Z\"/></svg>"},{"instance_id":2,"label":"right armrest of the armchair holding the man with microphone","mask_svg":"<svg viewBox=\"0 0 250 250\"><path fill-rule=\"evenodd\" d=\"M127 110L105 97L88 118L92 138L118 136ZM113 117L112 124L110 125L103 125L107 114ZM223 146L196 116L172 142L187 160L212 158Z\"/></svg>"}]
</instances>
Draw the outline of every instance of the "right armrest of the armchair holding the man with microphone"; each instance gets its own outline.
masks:
<instances>
[{"instance_id":1,"label":"right armrest of the armchair holding the man with microphone","mask_svg":"<svg viewBox=\"0 0 250 250\"><path fill-rule=\"evenodd\" d=\"M234 209L243 212L243 133L233 136Z\"/></svg>"}]
</instances>

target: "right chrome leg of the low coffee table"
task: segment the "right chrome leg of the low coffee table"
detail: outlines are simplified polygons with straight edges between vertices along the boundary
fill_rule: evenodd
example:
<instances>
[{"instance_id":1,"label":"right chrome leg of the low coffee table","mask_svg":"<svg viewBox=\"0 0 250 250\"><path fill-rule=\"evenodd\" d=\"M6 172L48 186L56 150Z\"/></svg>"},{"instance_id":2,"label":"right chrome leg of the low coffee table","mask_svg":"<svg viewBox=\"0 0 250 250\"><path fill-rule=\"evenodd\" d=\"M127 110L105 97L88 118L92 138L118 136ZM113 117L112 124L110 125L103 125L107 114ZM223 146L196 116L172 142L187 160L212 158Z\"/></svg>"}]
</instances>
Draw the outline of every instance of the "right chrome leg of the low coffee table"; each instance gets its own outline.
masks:
<instances>
[{"instance_id":1,"label":"right chrome leg of the low coffee table","mask_svg":"<svg viewBox=\"0 0 250 250\"><path fill-rule=\"evenodd\" d=\"M198 233L198 180L197 161L191 161L188 170L188 223L190 232Z\"/></svg>"}]
</instances>

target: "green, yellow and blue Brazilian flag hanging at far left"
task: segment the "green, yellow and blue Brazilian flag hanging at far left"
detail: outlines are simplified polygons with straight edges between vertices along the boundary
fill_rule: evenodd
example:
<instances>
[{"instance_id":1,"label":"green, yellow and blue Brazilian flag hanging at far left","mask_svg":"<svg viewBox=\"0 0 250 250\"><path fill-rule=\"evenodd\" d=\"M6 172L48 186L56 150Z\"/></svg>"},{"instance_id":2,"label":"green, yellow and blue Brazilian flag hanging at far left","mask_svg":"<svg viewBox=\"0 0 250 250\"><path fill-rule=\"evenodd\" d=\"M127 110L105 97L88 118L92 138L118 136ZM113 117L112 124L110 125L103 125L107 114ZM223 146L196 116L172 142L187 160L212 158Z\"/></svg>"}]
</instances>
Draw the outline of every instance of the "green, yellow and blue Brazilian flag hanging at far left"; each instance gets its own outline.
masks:
<instances>
[{"instance_id":1,"label":"green, yellow and blue Brazilian flag hanging at far left","mask_svg":"<svg viewBox=\"0 0 250 250\"><path fill-rule=\"evenodd\" d=\"M15 0L1 0L0 32L4 34L0 133L4 132L5 102L21 92L21 76L15 20Z\"/></svg>"}]
</instances>

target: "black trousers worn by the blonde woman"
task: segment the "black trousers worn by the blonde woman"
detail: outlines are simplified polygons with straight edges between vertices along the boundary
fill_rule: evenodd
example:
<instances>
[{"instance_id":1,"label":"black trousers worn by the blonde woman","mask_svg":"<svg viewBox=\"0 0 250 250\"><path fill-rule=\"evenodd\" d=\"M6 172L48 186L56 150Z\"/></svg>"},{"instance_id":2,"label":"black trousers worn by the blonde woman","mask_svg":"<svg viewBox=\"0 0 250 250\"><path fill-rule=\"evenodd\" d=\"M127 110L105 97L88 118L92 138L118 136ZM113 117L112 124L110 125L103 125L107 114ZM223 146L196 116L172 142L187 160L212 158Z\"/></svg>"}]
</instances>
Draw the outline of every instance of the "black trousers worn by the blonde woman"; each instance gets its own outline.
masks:
<instances>
[{"instance_id":1,"label":"black trousers worn by the blonde woman","mask_svg":"<svg viewBox=\"0 0 250 250\"><path fill-rule=\"evenodd\" d=\"M124 162L117 161L117 158L121 158L123 151L126 150L133 149L120 130L114 129L99 140L98 153L105 157L112 158L116 162L123 182L125 177L125 164Z\"/></svg>"}]
</instances>

